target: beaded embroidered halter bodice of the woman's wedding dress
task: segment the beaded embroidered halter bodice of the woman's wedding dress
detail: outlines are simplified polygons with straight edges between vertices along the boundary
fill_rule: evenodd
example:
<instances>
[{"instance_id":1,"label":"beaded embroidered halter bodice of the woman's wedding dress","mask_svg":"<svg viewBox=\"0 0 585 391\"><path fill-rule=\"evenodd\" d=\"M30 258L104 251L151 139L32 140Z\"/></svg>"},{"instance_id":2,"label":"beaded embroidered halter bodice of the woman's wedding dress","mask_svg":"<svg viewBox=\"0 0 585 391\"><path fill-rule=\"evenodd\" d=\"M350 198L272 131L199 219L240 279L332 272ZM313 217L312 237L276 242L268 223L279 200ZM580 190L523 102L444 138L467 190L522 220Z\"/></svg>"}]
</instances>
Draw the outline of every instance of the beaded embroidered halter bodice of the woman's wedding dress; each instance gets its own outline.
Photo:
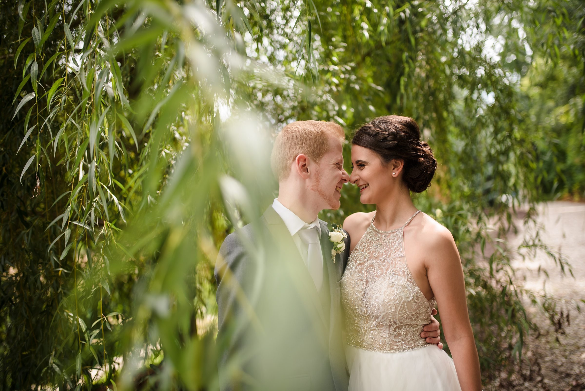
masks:
<instances>
[{"instance_id":1,"label":"beaded embroidered halter bodice of the woman's wedding dress","mask_svg":"<svg viewBox=\"0 0 585 391\"><path fill-rule=\"evenodd\" d=\"M426 300L404 256L404 227L418 212L392 231L380 231L372 219L349 256L341 279L347 344L380 352L428 345L420 333L436 301Z\"/></svg>"}]
</instances>

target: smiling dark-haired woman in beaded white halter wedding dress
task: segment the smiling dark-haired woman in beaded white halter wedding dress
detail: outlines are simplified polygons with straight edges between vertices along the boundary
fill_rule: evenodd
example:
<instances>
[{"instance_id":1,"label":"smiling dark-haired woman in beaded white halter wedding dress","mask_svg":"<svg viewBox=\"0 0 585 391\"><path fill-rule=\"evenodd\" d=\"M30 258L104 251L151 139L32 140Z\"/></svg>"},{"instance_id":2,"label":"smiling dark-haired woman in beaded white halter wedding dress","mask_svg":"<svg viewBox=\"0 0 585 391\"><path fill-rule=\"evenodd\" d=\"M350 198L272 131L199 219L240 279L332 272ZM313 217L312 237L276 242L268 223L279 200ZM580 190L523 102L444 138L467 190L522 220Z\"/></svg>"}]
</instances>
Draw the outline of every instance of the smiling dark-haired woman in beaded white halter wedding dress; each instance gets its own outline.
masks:
<instances>
[{"instance_id":1,"label":"smiling dark-haired woman in beaded white halter wedding dress","mask_svg":"<svg viewBox=\"0 0 585 391\"><path fill-rule=\"evenodd\" d=\"M436 160L417 122L383 116L352 140L350 182L376 211L343 222L352 238L341 280L349 391L480 391L459 252L451 233L415 208ZM419 337L438 305L451 359Z\"/></svg>"}]
</instances>

